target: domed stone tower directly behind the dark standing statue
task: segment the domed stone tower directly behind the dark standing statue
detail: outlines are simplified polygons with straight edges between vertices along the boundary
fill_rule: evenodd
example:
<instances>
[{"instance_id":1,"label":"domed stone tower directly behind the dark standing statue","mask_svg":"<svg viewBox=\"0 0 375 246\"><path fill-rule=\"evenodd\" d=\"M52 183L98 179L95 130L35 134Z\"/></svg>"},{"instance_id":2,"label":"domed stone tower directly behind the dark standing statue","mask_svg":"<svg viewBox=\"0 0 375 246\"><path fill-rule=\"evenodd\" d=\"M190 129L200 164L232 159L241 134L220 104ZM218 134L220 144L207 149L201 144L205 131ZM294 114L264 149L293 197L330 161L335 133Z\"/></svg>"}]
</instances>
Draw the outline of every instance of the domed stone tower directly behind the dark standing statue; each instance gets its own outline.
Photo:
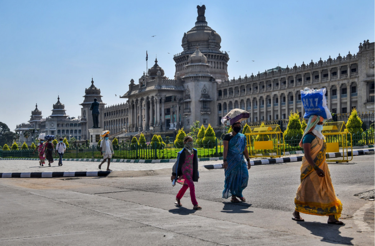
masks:
<instances>
[{"instance_id":1,"label":"domed stone tower directly behind the dark standing statue","mask_svg":"<svg viewBox=\"0 0 375 246\"><path fill-rule=\"evenodd\" d=\"M99 127L104 126L104 105L105 103L102 101L102 95L100 95L100 89L96 88L94 85L94 80L91 79L91 86L86 88L85 95L83 96L85 99L83 103L80 105L81 108L81 139L87 140L90 137L89 129L93 126L93 118L91 116L90 107L92 102L94 102L94 98L98 100L100 103L99 106Z\"/></svg>"}]
</instances>

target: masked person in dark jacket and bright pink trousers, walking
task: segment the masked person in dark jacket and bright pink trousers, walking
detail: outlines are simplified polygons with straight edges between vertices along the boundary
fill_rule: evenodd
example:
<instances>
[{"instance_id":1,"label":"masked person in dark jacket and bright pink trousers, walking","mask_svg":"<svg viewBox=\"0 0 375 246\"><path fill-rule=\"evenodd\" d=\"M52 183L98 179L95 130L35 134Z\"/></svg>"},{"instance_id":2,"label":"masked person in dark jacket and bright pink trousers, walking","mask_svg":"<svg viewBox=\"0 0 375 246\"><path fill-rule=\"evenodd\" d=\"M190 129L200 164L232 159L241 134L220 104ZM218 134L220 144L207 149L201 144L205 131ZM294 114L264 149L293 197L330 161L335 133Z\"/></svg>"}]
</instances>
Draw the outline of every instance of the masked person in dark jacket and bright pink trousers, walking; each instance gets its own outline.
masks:
<instances>
[{"instance_id":1,"label":"masked person in dark jacket and bright pink trousers, walking","mask_svg":"<svg viewBox=\"0 0 375 246\"><path fill-rule=\"evenodd\" d=\"M171 181L181 184L182 187L178 191L176 196L175 204L177 206L182 206L181 199L184 196L187 188L190 189L190 199L193 203L193 209L202 209L198 205L195 198L195 186L194 182L198 182L199 172L198 172L198 153L195 148L193 148L193 138L191 136L186 136L184 138L184 148L178 152L177 160L172 167Z\"/></svg>"}]
</instances>

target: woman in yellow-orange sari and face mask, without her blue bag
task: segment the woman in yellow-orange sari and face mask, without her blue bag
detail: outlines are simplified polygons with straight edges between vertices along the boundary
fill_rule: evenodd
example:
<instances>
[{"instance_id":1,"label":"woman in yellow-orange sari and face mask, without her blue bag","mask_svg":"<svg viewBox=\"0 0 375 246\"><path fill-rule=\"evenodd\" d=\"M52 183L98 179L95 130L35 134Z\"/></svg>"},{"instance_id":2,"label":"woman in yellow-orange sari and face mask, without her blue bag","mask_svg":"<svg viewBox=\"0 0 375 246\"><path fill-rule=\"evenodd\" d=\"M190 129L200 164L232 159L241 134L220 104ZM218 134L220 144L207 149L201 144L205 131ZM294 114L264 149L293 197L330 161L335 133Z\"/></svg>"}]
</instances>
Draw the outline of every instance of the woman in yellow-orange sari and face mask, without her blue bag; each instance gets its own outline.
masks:
<instances>
[{"instance_id":1,"label":"woman in yellow-orange sari and face mask, without her blue bag","mask_svg":"<svg viewBox=\"0 0 375 246\"><path fill-rule=\"evenodd\" d=\"M326 162L326 140L321 133L323 122L320 116L311 116L303 133L300 147L305 156L302 158L301 184L298 187L294 203L296 210L293 220L305 221L300 213L329 216L328 224L342 225L342 204L333 189L330 172Z\"/></svg>"}]
</instances>

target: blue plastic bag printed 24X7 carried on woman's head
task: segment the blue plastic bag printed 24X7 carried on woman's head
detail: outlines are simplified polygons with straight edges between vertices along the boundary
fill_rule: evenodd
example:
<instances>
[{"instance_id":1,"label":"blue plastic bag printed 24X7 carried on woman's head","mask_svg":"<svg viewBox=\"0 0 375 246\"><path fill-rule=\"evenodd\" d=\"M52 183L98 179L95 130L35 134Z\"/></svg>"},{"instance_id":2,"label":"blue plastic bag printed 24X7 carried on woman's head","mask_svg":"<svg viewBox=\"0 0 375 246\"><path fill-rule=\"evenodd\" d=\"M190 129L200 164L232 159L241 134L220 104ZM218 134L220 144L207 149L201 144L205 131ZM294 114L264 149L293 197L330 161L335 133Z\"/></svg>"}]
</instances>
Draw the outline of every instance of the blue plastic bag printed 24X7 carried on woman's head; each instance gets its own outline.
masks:
<instances>
[{"instance_id":1,"label":"blue plastic bag printed 24X7 carried on woman's head","mask_svg":"<svg viewBox=\"0 0 375 246\"><path fill-rule=\"evenodd\" d=\"M327 107L326 88L311 90L305 88L301 90L301 101L305 108L303 118L309 119L312 115L321 116L326 120L332 119L331 112Z\"/></svg>"}]
</instances>

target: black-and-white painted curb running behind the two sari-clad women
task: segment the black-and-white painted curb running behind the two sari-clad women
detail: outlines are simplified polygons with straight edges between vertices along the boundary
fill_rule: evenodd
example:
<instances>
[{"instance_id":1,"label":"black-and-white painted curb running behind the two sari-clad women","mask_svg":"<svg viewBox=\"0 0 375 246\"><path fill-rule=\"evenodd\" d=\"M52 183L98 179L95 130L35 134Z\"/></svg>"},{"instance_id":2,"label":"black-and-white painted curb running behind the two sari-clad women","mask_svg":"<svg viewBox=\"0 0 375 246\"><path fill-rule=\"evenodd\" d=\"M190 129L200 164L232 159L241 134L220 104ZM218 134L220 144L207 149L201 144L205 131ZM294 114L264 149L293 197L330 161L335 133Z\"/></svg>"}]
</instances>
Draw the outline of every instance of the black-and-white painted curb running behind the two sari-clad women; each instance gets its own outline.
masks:
<instances>
[{"instance_id":1,"label":"black-and-white painted curb running behind the two sari-clad women","mask_svg":"<svg viewBox=\"0 0 375 246\"><path fill-rule=\"evenodd\" d=\"M374 151L374 149L368 150L354 150L353 156L362 156L366 152ZM337 152L337 153L327 153L326 156L329 158L337 158L342 156L351 156L351 151L347 152ZM288 163L288 162L302 162L302 156L295 156L295 157L283 157L283 158L274 158L274 159L264 159L264 160L254 160L250 161L251 166L257 165L267 165L267 164L276 164L276 163ZM223 164L213 164L213 165L203 165L207 169L221 169L223 168Z\"/></svg>"}]
</instances>

